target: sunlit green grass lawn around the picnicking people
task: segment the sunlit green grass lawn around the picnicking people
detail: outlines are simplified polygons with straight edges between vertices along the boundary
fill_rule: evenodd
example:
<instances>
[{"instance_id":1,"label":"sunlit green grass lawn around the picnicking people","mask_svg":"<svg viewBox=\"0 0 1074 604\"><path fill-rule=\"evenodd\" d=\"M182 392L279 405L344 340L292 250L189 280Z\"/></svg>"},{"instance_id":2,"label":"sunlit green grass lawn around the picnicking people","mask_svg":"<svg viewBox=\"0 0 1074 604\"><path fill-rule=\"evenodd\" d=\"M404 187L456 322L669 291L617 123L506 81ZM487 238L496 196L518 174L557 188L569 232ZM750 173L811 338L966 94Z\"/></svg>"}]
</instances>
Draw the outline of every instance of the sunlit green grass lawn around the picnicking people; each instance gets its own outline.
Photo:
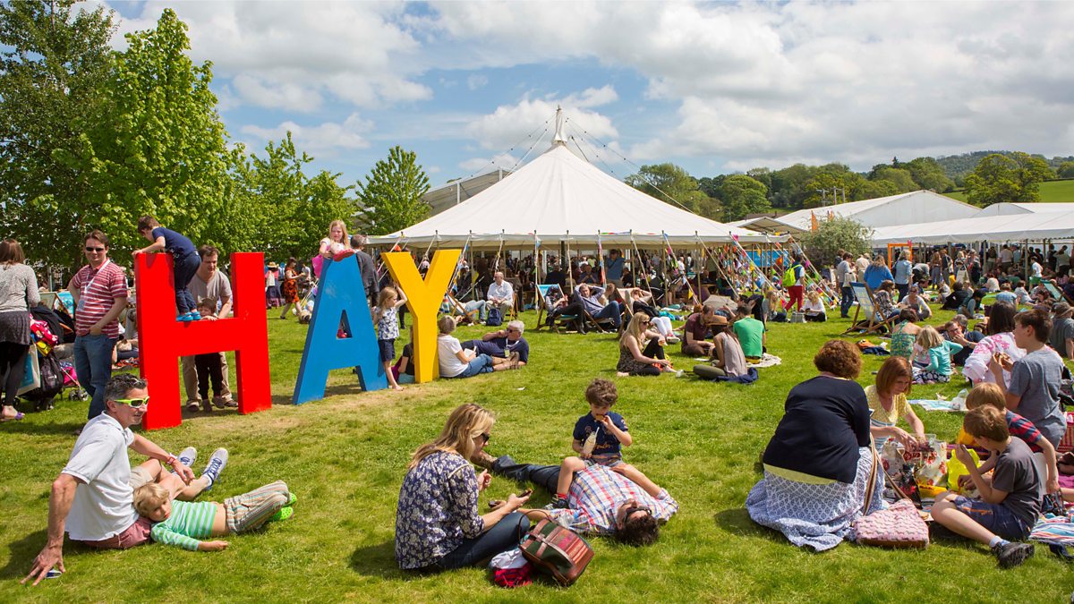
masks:
<instances>
[{"instance_id":1,"label":"sunlit green grass lawn around the picnicking people","mask_svg":"<svg viewBox=\"0 0 1074 604\"><path fill-rule=\"evenodd\" d=\"M948 317L940 313L931 322ZM536 319L533 313L524 318L531 326ZM758 479L755 462L787 391L815 374L813 354L845 327L839 319L774 325L769 350L783 364L760 370L753 386L672 375L618 378L613 335L531 331L532 362L521 371L373 393L360 392L354 376L338 371L328 399L294 407L281 403L294 387L305 328L272 319L276 406L248 416L185 414L182 427L149 437L173 451L197 446L199 472L215 447L228 447L223 477L203 499L219 501L279 478L299 497L294 517L231 537L231 547L216 553L162 545L97 552L68 544L67 574L23 587L18 579L45 542L49 485L86 414L87 403L64 402L0 427L0 601L1066 601L1074 575L1044 547L1012 571L998 570L983 546L949 541L925 550L843 544L817 555L749 519L743 502ZM460 331L466 339L483 328ZM677 353L673 360L679 368L693 365ZM862 384L881 361L865 358ZM396 567L395 501L406 464L452 408L475 401L496 414L489 444L494 455L558 463L571 452L571 429L587 411L582 392L596 376L619 386L615 409L635 437L626 459L680 503L656 545L636 549L592 540L596 558L569 589L538 580L505 591L480 569L421 576ZM960 388L916 387L912 398L954 396ZM960 416L919 413L928 432L954 437ZM141 461L133 452L131 458ZM497 478L481 505L519 489ZM538 491L532 503L547 501L548 493Z\"/></svg>"}]
</instances>

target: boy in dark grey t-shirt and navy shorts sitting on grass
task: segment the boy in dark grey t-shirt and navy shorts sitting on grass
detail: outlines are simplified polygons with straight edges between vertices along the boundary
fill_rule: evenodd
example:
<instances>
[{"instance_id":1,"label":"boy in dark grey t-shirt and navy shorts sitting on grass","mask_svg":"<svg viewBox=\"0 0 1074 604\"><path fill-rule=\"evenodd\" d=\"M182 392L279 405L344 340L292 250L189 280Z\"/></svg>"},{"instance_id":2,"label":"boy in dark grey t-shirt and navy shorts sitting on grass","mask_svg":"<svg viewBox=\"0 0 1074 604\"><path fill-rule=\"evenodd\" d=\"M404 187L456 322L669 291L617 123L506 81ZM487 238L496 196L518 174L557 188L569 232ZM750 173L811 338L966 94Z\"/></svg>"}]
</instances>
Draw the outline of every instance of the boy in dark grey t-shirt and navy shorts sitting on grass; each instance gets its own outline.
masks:
<instances>
[{"instance_id":1,"label":"boy in dark grey t-shirt and navy shorts sitting on grass","mask_svg":"<svg viewBox=\"0 0 1074 604\"><path fill-rule=\"evenodd\" d=\"M1005 414L996 407L971 411L962 428L997 457L996 470L991 481L986 481L966 446L958 445L955 457L969 470L981 499L945 491L935 499L932 518L964 537L988 544L1001 567L1017 566L1033 555L1033 546L1014 542L1029 536L1043 497L1033 452L1020 438L1011 437Z\"/></svg>"}]
</instances>

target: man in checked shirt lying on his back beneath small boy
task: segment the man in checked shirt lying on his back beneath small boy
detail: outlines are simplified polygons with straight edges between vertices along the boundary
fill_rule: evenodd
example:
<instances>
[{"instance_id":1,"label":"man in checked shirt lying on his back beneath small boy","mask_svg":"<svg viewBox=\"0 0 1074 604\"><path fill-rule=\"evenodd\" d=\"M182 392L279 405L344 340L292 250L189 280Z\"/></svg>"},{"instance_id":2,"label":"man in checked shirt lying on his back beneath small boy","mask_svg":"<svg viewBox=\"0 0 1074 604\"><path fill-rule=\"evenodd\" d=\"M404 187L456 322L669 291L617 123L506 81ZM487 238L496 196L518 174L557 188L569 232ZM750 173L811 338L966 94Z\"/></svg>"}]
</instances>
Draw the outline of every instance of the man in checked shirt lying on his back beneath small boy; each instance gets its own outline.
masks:
<instances>
[{"instance_id":1,"label":"man in checked shirt lying on his back beneath small boy","mask_svg":"<svg viewBox=\"0 0 1074 604\"><path fill-rule=\"evenodd\" d=\"M558 465L516 463L509 456L493 458L479 451L474 462L494 474L531 481L555 493ZM498 502L489 502L495 506ZM532 520L549 518L577 531L610 534L627 545L652 545L659 526L679 510L679 503L644 474L630 465L591 465L575 474L567 492L566 509L520 509Z\"/></svg>"}]
</instances>

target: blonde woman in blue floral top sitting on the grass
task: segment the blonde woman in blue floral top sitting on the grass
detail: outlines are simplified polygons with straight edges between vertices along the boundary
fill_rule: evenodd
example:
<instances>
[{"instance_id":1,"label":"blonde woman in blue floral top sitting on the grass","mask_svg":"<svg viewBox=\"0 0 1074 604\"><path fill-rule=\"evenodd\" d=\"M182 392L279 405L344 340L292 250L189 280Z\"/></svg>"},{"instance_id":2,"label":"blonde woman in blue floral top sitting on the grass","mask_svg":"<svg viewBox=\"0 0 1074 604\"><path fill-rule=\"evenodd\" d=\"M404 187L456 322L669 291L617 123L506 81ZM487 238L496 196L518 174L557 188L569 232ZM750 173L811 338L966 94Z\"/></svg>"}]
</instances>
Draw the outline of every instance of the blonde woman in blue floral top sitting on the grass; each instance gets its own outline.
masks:
<instances>
[{"instance_id":1,"label":"blonde woman in blue floral top sitting on the grass","mask_svg":"<svg viewBox=\"0 0 1074 604\"><path fill-rule=\"evenodd\" d=\"M511 494L507 504L478 515L478 492L492 481L474 473L469 459L489 443L494 420L468 403L451 413L444 431L418 447L400 489L395 512L395 559L403 570L459 569L518 546L529 521L516 512L529 499Z\"/></svg>"}]
</instances>

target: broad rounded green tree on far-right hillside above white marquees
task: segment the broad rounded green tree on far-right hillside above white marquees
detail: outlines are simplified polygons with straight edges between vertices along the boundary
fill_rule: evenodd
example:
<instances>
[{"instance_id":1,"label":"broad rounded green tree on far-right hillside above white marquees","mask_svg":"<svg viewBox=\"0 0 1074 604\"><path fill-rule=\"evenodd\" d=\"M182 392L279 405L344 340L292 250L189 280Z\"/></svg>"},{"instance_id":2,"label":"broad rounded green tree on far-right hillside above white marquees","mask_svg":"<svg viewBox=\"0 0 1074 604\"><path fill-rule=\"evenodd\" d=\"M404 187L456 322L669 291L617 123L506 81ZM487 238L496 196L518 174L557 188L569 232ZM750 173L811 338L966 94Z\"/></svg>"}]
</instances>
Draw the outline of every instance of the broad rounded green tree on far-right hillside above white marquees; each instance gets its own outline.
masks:
<instances>
[{"instance_id":1,"label":"broad rounded green tree on far-right hillside above white marquees","mask_svg":"<svg viewBox=\"0 0 1074 604\"><path fill-rule=\"evenodd\" d=\"M1054 176L1047 161L1015 152L1011 157L992 154L966 177L967 198L975 205L1024 203L1041 199L1041 182Z\"/></svg>"}]
</instances>

